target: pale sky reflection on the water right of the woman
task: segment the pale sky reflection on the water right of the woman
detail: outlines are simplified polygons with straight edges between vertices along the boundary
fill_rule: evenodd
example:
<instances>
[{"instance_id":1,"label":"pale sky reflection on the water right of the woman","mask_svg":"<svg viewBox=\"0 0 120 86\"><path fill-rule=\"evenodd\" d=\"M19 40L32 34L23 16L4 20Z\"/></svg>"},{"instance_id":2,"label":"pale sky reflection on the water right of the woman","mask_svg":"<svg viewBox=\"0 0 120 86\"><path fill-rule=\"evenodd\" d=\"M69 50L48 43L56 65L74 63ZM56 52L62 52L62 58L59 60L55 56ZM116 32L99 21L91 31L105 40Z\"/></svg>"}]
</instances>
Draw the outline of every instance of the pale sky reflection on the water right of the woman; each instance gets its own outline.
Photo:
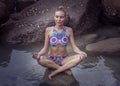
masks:
<instances>
[{"instance_id":1,"label":"pale sky reflection on the water right of the woman","mask_svg":"<svg viewBox=\"0 0 120 86\"><path fill-rule=\"evenodd\" d=\"M119 86L118 83L120 81L114 77L114 70L106 66L106 59L103 56L90 57L88 60L93 61L83 62L76 68L73 68L74 76L81 82L80 86ZM89 64L91 65L90 68L88 66Z\"/></svg>"}]
</instances>

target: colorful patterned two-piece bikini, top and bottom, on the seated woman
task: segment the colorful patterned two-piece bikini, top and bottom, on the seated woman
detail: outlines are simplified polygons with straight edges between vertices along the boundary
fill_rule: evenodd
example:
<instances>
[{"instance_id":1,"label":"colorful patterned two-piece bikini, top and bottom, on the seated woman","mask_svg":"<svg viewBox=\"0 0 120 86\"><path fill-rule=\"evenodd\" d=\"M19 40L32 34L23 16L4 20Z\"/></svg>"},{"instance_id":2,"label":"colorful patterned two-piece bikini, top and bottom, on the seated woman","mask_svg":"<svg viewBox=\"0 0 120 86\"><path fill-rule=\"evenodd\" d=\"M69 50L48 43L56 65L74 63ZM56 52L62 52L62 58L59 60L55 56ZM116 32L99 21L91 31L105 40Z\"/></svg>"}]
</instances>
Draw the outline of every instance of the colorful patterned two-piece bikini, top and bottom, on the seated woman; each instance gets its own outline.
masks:
<instances>
[{"instance_id":1,"label":"colorful patterned two-piece bikini, top and bottom, on the seated woman","mask_svg":"<svg viewBox=\"0 0 120 86\"><path fill-rule=\"evenodd\" d=\"M51 46L67 46L69 43L69 38L67 36L66 27L63 28L63 31L61 33L58 33L54 27L52 37L50 38L49 43ZM67 56L68 55L56 57L56 56L48 55L50 59L52 59L55 63L59 65L61 64L63 59L66 58Z\"/></svg>"}]
</instances>

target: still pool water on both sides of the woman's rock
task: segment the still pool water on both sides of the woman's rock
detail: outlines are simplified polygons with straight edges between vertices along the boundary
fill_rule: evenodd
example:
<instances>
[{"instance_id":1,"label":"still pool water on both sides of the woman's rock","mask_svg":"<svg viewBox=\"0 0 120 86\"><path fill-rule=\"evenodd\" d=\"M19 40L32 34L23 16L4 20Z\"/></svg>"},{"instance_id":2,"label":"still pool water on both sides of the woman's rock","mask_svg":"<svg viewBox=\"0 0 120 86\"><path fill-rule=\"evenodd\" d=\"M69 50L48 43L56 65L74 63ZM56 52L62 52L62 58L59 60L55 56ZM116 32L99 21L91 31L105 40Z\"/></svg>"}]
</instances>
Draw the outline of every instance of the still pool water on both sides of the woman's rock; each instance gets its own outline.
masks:
<instances>
[{"instance_id":1,"label":"still pool water on both sides of the woman's rock","mask_svg":"<svg viewBox=\"0 0 120 86\"><path fill-rule=\"evenodd\" d=\"M42 45L0 44L0 86L39 86L45 68L32 58L32 53ZM88 55L72 72L80 86L120 86L120 57Z\"/></svg>"}]
</instances>

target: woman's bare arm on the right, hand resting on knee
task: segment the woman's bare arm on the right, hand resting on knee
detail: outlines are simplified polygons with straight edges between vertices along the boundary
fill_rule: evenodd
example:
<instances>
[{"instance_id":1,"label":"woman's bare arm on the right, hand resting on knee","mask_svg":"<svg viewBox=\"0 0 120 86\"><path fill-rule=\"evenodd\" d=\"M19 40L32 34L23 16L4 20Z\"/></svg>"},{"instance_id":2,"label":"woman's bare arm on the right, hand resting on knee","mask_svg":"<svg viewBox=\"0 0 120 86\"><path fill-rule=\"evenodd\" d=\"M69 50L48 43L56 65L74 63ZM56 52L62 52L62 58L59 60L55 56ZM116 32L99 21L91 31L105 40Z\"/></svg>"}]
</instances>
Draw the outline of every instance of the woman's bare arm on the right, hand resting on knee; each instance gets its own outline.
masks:
<instances>
[{"instance_id":1,"label":"woman's bare arm on the right, hand resting on knee","mask_svg":"<svg viewBox=\"0 0 120 86\"><path fill-rule=\"evenodd\" d=\"M74 41L74 36L73 36L73 30L72 30L72 28L69 28L68 30L69 30L68 33L69 33L70 43L71 43L71 46L72 46L73 51L74 51L75 53L78 53L78 54L80 54L80 55L82 55L82 56L87 57L87 54L86 54L85 52L81 51L81 50L76 46L75 41Z\"/></svg>"}]
</instances>

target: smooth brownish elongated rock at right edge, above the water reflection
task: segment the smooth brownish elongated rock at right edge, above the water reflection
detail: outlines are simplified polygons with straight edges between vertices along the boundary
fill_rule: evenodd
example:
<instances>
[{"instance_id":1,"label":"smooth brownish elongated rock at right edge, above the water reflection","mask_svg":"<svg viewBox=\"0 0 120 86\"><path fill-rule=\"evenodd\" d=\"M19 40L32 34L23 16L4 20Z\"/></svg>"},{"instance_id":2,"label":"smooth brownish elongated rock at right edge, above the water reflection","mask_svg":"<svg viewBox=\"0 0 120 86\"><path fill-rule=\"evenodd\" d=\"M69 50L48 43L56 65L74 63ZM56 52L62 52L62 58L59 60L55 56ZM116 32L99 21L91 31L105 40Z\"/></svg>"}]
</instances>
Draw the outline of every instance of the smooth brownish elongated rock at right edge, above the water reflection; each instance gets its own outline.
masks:
<instances>
[{"instance_id":1,"label":"smooth brownish elongated rock at right edge, above the water reflection","mask_svg":"<svg viewBox=\"0 0 120 86\"><path fill-rule=\"evenodd\" d=\"M86 50L91 53L98 54L114 54L120 51L120 38L109 38L88 44Z\"/></svg>"}]
</instances>

